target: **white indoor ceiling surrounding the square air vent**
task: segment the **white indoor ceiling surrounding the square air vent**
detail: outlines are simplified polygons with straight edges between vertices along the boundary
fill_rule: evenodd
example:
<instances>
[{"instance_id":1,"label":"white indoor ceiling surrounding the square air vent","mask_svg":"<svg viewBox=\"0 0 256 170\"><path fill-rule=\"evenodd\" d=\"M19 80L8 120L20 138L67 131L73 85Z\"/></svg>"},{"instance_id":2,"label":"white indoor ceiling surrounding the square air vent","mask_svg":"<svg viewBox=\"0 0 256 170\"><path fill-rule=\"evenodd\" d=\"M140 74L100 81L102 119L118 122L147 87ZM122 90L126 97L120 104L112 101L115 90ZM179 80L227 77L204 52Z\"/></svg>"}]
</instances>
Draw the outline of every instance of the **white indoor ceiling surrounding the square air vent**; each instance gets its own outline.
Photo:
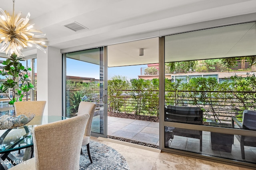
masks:
<instances>
[{"instance_id":1,"label":"white indoor ceiling surrounding the square air vent","mask_svg":"<svg viewBox=\"0 0 256 170\"><path fill-rule=\"evenodd\" d=\"M12 0L0 2L0 8L12 14ZM81 45L95 47L99 42L128 35L255 13L256 0L16 0L15 11L21 11L22 17L30 12L30 23L46 33L49 46L63 50ZM88 29L75 32L64 27L73 21ZM25 55L36 52L25 51Z\"/></svg>"}]
</instances>

